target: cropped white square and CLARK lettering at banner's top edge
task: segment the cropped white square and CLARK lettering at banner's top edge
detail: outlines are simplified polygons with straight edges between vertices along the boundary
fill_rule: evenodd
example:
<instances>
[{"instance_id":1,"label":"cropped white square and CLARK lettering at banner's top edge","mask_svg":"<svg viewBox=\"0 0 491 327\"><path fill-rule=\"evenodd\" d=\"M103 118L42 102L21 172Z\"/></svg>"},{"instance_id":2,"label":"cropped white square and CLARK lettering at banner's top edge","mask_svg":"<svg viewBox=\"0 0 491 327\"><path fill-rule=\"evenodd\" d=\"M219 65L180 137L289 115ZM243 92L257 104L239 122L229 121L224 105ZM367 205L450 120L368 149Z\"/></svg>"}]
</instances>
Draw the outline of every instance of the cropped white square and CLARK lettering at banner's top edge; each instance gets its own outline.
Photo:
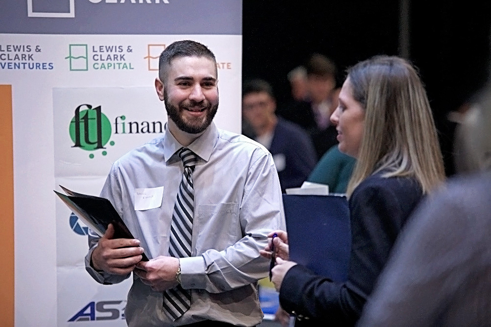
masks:
<instances>
[{"instance_id":1,"label":"cropped white square and CLARK lettering at banner's top edge","mask_svg":"<svg viewBox=\"0 0 491 327\"><path fill-rule=\"evenodd\" d=\"M168 0L86 0L100 3L169 3ZM75 0L27 0L27 17L75 18Z\"/></svg>"}]
</instances>

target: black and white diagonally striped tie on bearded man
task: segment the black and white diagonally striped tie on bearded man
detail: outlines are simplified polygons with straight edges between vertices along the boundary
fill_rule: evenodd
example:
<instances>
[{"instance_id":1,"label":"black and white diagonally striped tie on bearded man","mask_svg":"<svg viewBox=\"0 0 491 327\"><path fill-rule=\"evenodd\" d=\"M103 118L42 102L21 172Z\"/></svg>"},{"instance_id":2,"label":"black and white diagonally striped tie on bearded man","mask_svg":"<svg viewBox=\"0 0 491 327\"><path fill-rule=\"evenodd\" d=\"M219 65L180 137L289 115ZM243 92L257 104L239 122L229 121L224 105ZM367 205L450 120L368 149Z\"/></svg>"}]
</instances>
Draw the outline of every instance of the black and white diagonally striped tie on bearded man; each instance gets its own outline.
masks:
<instances>
[{"instance_id":1,"label":"black and white diagonally striped tie on bearded man","mask_svg":"<svg viewBox=\"0 0 491 327\"><path fill-rule=\"evenodd\" d=\"M178 155L184 164L184 174L172 213L169 255L183 258L191 256L192 213L194 208L191 174L196 164L196 155L188 148L181 148ZM181 285L165 291L163 306L165 314L172 321L175 321L190 308L190 291L183 289Z\"/></svg>"}]
</instances>

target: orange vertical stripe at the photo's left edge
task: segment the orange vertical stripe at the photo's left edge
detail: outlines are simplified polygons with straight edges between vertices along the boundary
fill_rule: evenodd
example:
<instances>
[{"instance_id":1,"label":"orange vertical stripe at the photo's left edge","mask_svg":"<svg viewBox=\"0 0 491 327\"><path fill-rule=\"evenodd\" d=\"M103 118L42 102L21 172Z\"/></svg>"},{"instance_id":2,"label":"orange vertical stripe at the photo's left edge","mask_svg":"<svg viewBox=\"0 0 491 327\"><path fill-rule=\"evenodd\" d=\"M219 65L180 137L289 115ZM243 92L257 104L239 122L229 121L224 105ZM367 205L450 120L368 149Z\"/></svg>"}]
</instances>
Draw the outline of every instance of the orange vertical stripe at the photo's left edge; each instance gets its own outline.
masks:
<instances>
[{"instance_id":1,"label":"orange vertical stripe at the photo's left edge","mask_svg":"<svg viewBox=\"0 0 491 327\"><path fill-rule=\"evenodd\" d=\"M14 326L14 157L12 143L12 86L0 85L0 248L2 278L1 326Z\"/></svg>"}]
</instances>

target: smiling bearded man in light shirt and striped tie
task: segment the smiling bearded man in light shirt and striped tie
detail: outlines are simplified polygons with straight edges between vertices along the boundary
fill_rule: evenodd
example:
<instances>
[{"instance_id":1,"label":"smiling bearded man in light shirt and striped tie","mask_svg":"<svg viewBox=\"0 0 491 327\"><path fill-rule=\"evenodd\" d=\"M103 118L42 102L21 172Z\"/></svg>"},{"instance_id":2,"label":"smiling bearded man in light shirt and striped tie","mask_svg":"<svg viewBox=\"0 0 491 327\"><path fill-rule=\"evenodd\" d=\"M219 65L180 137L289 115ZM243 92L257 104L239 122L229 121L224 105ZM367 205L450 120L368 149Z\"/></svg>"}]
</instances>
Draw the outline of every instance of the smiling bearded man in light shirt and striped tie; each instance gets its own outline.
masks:
<instances>
[{"instance_id":1,"label":"smiling bearded man in light shirt and striped tie","mask_svg":"<svg viewBox=\"0 0 491 327\"><path fill-rule=\"evenodd\" d=\"M133 274L130 327L262 321L257 281L269 261L259 250L285 228L281 189L266 148L213 122L217 75L206 46L170 44L155 79L165 133L117 160L101 191L135 239L114 238L110 224L103 237L90 232L85 267L103 284Z\"/></svg>"}]
</instances>

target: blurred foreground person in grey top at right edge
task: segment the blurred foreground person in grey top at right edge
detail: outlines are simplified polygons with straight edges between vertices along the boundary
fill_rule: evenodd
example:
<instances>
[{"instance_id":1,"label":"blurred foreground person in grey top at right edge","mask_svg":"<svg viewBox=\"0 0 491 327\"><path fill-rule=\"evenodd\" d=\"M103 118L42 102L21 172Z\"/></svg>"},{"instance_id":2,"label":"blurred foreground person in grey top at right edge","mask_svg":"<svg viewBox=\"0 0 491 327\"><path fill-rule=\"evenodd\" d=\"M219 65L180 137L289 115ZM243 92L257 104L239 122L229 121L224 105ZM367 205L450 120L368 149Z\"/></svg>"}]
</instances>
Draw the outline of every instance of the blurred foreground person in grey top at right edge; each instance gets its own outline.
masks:
<instances>
[{"instance_id":1,"label":"blurred foreground person in grey top at right edge","mask_svg":"<svg viewBox=\"0 0 491 327\"><path fill-rule=\"evenodd\" d=\"M418 206L359 326L490 325L491 84L470 110L463 146L474 171L452 178Z\"/></svg>"}]
</instances>

